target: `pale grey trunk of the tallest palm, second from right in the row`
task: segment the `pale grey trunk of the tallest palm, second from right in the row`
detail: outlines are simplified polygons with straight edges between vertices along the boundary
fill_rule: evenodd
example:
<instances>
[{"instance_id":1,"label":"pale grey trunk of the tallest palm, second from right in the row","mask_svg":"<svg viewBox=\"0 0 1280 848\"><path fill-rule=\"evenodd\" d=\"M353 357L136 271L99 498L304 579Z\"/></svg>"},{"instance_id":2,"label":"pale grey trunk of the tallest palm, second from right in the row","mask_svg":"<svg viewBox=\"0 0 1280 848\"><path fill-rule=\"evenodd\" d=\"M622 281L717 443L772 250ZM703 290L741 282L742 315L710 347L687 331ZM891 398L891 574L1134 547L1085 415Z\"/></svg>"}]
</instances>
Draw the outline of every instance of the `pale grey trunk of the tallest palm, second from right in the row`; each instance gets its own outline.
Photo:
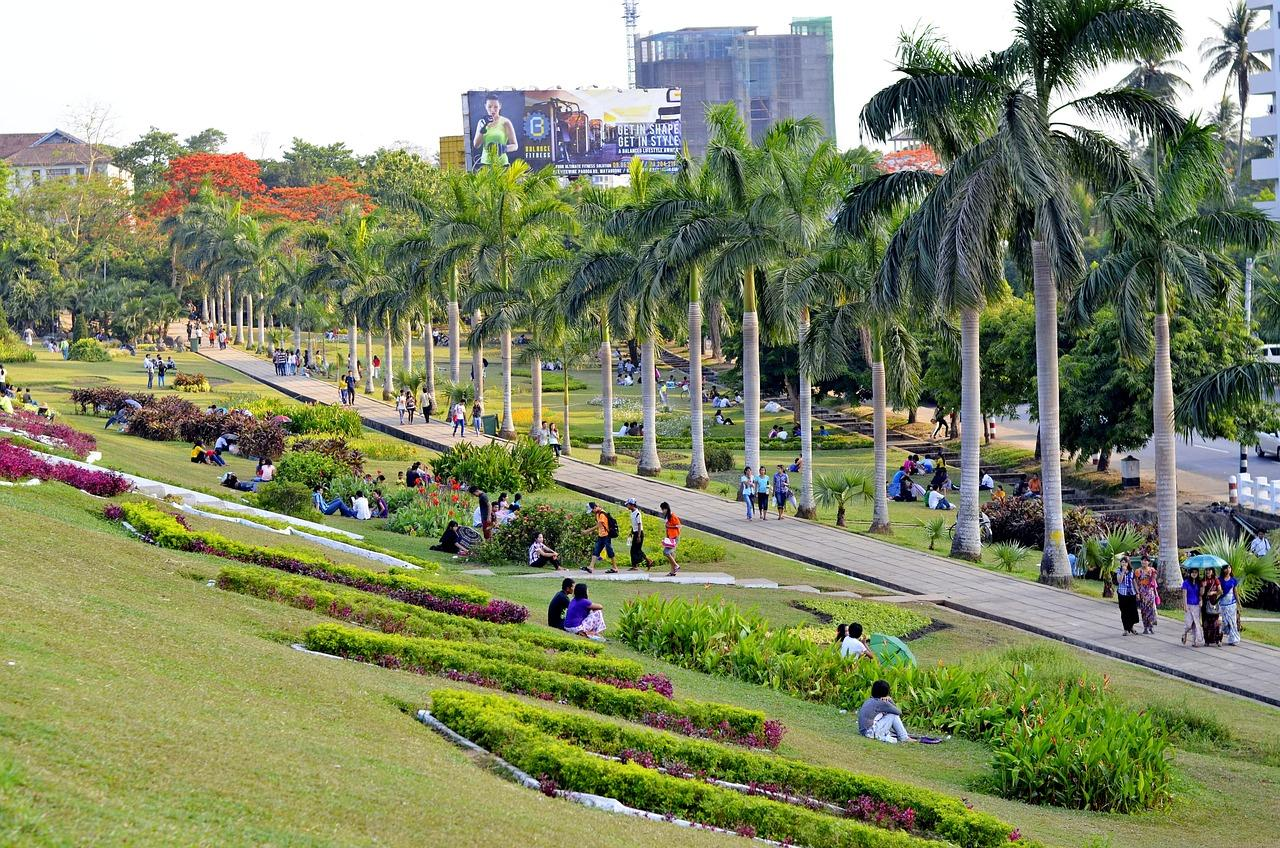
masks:
<instances>
[{"instance_id":1,"label":"pale grey trunk of the tallest palm, second from right in the row","mask_svg":"<svg viewBox=\"0 0 1280 848\"><path fill-rule=\"evenodd\" d=\"M1057 389L1057 284L1048 246L1032 241L1032 277L1036 289L1036 389L1039 402L1041 498L1044 502L1044 553L1041 583L1071 585L1062 529L1062 446L1059 436Z\"/></svg>"}]
</instances>

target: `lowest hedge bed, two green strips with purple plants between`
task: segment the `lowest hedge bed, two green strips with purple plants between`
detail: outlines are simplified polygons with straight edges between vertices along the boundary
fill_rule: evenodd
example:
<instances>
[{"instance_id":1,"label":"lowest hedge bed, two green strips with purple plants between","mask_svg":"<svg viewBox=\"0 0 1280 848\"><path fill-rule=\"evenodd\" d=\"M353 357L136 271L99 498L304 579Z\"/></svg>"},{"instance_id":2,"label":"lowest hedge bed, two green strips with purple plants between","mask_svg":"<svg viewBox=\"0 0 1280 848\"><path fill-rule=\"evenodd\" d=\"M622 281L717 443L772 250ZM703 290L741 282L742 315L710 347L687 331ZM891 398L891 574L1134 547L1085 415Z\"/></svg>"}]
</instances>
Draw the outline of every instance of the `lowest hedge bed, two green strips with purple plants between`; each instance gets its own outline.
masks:
<instances>
[{"instance_id":1,"label":"lowest hedge bed, two green strips with purple plants between","mask_svg":"<svg viewBox=\"0 0 1280 848\"><path fill-rule=\"evenodd\" d=\"M1019 839L998 819L927 789L508 698L442 689L431 715L548 785L783 844L915 848L938 845L936 835L996 848ZM778 799L799 793L806 803Z\"/></svg>"}]
</instances>

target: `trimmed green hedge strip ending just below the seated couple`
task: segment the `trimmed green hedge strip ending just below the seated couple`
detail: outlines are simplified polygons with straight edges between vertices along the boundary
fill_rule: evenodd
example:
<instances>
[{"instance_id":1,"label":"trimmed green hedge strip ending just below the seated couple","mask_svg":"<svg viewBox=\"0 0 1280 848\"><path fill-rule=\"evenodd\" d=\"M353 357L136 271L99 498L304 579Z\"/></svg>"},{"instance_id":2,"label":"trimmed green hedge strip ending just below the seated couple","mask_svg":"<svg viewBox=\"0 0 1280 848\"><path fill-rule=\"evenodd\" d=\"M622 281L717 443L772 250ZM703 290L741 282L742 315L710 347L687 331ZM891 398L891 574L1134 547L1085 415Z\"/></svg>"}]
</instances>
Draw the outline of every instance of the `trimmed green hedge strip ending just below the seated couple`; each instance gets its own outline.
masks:
<instances>
[{"instance_id":1,"label":"trimmed green hedge strip ending just below the seated couple","mask_svg":"<svg viewBox=\"0 0 1280 848\"><path fill-rule=\"evenodd\" d=\"M520 624L494 624L447 612L431 612L403 601L390 601L360 589L346 589L315 578L280 574L257 566L227 565L218 573L218 588L265 601L315 610L340 621L352 621L383 633L471 639L477 642L521 642L553 651L596 656L599 643Z\"/></svg>"}]
</instances>

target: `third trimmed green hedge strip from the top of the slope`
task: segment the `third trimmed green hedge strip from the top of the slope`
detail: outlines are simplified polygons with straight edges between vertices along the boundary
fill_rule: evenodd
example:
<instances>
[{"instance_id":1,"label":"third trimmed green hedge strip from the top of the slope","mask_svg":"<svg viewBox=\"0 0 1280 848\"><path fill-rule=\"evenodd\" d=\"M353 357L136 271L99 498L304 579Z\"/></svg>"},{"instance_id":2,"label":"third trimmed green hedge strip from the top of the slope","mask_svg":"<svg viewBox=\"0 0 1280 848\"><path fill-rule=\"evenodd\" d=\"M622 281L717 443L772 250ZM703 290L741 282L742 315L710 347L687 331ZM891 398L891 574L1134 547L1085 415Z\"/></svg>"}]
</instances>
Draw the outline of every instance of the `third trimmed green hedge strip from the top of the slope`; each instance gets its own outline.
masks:
<instances>
[{"instance_id":1,"label":"third trimmed green hedge strip from the top of the slope","mask_svg":"<svg viewBox=\"0 0 1280 848\"><path fill-rule=\"evenodd\" d=\"M604 683L584 680L558 671L531 669L513 662L490 660L457 648L439 648L430 652L415 646L415 639L370 633L338 624L317 624L303 634L307 648L340 657L401 667L413 662L421 674L461 671L479 675L488 685L563 699L576 707L607 716L635 721L668 716L686 720L696 733L716 734L730 739L765 738L764 713L744 710L727 703L699 701L673 701L643 689L620 689ZM678 726L678 725L677 725Z\"/></svg>"}]
</instances>

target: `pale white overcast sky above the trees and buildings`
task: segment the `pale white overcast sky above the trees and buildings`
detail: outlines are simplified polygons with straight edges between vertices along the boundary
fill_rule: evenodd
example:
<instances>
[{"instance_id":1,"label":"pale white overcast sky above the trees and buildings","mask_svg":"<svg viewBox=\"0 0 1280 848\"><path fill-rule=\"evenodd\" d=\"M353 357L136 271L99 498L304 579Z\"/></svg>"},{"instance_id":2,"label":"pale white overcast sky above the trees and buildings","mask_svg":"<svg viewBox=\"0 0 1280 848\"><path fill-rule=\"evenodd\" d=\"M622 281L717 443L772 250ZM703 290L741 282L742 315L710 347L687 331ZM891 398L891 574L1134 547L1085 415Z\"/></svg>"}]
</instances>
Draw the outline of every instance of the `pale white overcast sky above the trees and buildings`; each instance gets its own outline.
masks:
<instances>
[{"instance_id":1,"label":"pale white overcast sky above the trees and buildings","mask_svg":"<svg viewBox=\"0 0 1280 848\"><path fill-rule=\"evenodd\" d=\"M1222 82L1202 85L1199 42L1226 0L1166 0L1189 46L1180 56L1194 92L1183 108L1208 111ZM746 24L786 32L792 17L832 15L836 122L858 142L858 113L892 81L896 35L932 23L961 50L1005 46L1011 0L888 3L640 0L641 35ZM462 132L468 88L621 86L626 82L621 1L63 0L4 10L0 132L73 128L88 104L109 106L110 141L151 126L188 136L218 127L227 150L278 156L294 136L344 141L357 152L416 145L434 152ZM1119 79L1124 70L1112 74ZM1110 79L1108 79L1110 82ZM1254 97L1249 111L1266 111Z\"/></svg>"}]
</instances>

